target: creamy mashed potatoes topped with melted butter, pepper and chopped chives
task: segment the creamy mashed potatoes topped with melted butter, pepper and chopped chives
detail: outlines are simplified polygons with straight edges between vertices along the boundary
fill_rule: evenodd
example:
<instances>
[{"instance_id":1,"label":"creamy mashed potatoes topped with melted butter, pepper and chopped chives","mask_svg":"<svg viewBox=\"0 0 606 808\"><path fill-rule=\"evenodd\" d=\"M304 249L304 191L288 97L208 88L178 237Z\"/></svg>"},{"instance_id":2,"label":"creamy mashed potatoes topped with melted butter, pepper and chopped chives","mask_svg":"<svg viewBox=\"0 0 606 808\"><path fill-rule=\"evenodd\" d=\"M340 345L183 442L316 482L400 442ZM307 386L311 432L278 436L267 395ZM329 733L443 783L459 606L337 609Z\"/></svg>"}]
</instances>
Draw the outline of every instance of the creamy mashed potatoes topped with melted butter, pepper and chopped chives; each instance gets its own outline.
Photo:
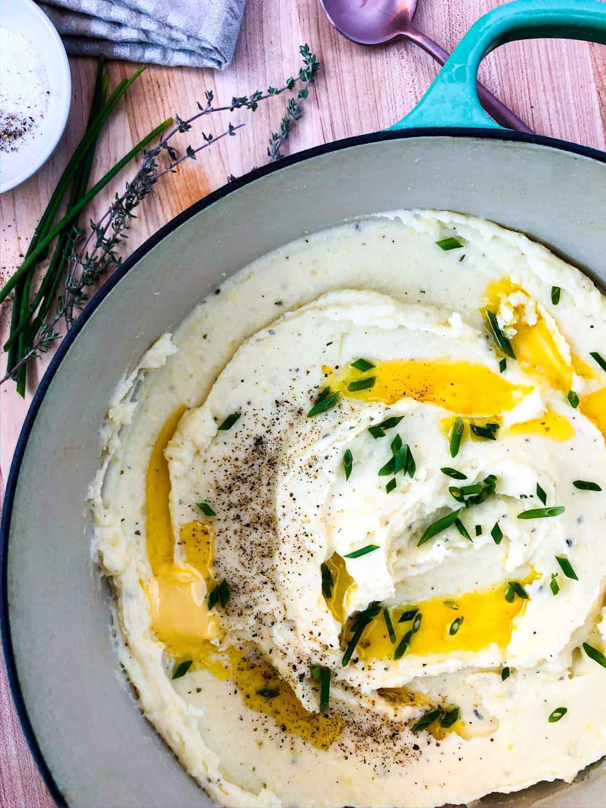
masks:
<instances>
[{"instance_id":1,"label":"creamy mashed potatoes topped with melted butter, pepper and chopped chives","mask_svg":"<svg viewBox=\"0 0 606 808\"><path fill-rule=\"evenodd\" d=\"M578 270L402 212L259 259L124 378L95 556L216 802L460 804L606 754L600 350Z\"/></svg>"}]
</instances>

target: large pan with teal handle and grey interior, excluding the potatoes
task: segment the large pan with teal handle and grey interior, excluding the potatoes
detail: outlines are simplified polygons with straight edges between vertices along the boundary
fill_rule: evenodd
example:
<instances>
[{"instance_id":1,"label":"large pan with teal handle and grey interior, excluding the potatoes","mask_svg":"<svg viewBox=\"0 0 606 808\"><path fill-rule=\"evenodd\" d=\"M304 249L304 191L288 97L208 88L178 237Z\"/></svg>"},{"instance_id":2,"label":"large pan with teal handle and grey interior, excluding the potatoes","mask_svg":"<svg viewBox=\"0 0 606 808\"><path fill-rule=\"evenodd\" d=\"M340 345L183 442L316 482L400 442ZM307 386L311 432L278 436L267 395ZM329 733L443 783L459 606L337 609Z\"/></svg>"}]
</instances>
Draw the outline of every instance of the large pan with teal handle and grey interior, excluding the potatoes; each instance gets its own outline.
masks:
<instances>
[{"instance_id":1,"label":"large pan with teal handle and grey interior, excluding the potatoes","mask_svg":"<svg viewBox=\"0 0 606 808\"><path fill-rule=\"evenodd\" d=\"M107 280L61 343L23 425L0 532L6 667L23 730L60 806L210 805L142 720L117 669L107 593L90 565L86 486L124 368L259 255L381 210L487 217L606 280L606 154L505 131L475 95L490 48L533 36L604 43L606 6L519 0L491 11L405 120L285 158L192 205ZM604 805L606 783L597 767L574 785L539 785L512 799L530 806L545 795L552 808Z\"/></svg>"}]
</instances>

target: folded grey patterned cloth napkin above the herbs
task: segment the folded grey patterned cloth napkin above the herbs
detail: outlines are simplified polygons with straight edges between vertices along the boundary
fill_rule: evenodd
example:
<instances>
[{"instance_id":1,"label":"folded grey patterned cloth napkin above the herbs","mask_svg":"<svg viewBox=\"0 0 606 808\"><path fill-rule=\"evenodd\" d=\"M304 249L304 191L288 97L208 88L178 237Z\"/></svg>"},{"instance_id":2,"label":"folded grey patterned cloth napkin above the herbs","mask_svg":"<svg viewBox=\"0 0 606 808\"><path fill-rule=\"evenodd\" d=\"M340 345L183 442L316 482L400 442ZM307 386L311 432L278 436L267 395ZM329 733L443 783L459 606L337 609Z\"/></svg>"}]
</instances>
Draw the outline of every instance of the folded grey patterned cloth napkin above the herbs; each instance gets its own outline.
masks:
<instances>
[{"instance_id":1,"label":"folded grey patterned cloth napkin above the herbs","mask_svg":"<svg viewBox=\"0 0 606 808\"><path fill-rule=\"evenodd\" d=\"M223 69L245 0L47 0L68 53Z\"/></svg>"}]
</instances>

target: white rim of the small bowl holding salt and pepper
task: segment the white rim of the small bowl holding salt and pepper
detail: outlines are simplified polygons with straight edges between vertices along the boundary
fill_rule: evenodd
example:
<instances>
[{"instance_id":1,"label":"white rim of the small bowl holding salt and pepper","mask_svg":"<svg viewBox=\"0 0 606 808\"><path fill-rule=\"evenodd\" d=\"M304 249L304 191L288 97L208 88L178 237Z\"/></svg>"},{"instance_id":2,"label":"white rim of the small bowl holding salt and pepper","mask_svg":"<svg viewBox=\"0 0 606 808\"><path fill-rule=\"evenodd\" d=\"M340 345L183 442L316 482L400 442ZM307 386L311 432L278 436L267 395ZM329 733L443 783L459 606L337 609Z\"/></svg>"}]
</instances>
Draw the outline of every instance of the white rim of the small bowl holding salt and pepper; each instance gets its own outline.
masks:
<instances>
[{"instance_id":1,"label":"white rim of the small bowl holding salt and pepper","mask_svg":"<svg viewBox=\"0 0 606 808\"><path fill-rule=\"evenodd\" d=\"M48 110L40 121L36 138L27 139L11 159L11 153L0 153L0 194L9 191L36 174L53 154L67 123L72 82L69 61L53 23L32 0L5 0L0 3L0 27L14 31L29 40L48 74L52 90Z\"/></svg>"}]
</instances>

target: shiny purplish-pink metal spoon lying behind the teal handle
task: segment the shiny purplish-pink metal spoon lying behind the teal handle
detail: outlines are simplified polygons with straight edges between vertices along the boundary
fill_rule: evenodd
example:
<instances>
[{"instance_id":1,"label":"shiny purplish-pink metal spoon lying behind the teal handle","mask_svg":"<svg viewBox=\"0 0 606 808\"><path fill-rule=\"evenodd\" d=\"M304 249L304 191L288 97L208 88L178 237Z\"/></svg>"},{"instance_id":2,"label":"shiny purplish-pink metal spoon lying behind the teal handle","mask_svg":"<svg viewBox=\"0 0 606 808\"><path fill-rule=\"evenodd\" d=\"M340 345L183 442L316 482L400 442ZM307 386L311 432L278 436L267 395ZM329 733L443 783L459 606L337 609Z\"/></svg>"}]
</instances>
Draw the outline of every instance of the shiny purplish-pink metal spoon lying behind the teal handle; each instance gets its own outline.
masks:
<instances>
[{"instance_id":1,"label":"shiny purplish-pink metal spoon lying behind the teal handle","mask_svg":"<svg viewBox=\"0 0 606 808\"><path fill-rule=\"evenodd\" d=\"M444 65L448 53L422 34L412 23L418 0L320 0L324 13L340 34L364 45L389 42L396 36L415 42ZM482 107L498 124L520 132L532 132L511 109L494 98L478 82L478 98Z\"/></svg>"}]
</instances>

